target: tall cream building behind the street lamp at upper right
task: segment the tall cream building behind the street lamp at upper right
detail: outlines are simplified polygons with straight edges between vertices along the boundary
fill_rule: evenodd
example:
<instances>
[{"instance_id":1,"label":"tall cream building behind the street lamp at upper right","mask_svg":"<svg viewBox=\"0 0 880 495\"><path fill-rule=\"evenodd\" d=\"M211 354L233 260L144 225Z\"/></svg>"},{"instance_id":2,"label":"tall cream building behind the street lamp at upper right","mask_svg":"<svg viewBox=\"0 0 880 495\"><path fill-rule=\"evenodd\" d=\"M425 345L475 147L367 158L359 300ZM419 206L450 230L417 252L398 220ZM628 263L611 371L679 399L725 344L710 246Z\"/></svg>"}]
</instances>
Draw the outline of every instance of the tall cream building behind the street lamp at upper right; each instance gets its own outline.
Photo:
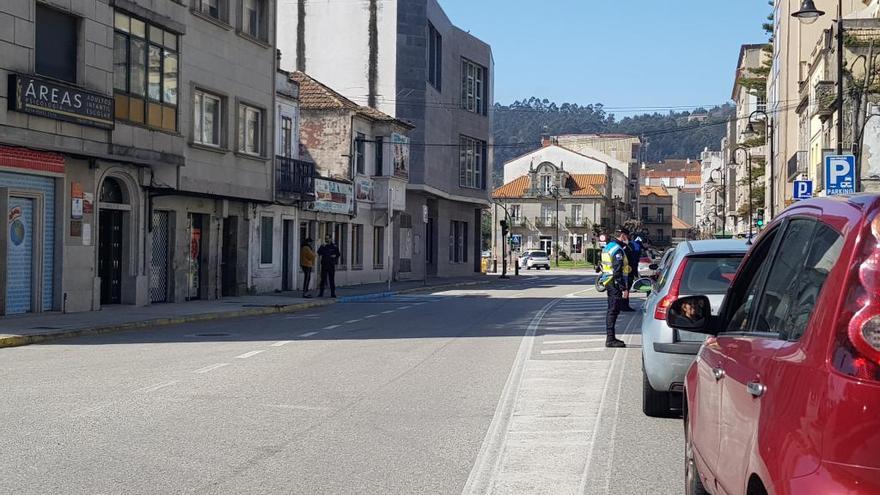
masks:
<instances>
[{"instance_id":1,"label":"tall cream building behind the street lamp at upper right","mask_svg":"<svg viewBox=\"0 0 880 495\"><path fill-rule=\"evenodd\" d=\"M840 0L844 15L865 7L864 0ZM767 183L765 218L770 217L772 202L775 214L790 203L792 180L807 168L807 149L801 146L801 126L797 107L800 83L807 74L804 69L811 59L811 53L822 32L829 29L835 20L838 0L815 0L816 7L827 14L819 17L813 24L804 24L791 16L800 9L800 0L775 0L773 4L773 54L770 74L767 79L767 113L771 115L769 135L773 137L774 170L765 174ZM833 129L835 122L829 121ZM836 147L835 133L831 133L829 148ZM846 144L846 143L844 143ZM773 181L774 194L771 195L769 181ZM772 196L772 197L771 197Z\"/></svg>"}]
</instances>

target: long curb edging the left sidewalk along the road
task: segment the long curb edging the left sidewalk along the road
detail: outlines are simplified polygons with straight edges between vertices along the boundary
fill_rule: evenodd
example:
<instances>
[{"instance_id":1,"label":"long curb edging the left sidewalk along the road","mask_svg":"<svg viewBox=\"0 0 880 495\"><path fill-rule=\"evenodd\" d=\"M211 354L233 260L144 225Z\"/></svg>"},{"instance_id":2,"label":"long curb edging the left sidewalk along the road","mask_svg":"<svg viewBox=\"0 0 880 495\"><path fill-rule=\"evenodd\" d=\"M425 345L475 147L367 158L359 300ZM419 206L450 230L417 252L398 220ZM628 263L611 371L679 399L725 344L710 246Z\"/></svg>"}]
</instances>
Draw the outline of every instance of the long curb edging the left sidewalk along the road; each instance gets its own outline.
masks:
<instances>
[{"instance_id":1,"label":"long curb edging the left sidewalk along the road","mask_svg":"<svg viewBox=\"0 0 880 495\"><path fill-rule=\"evenodd\" d=\"M424 292L430 290L442 290L449 289L453 287L465 287L471 285L479 285L491 282L491 280L475 280L472 282L458 282L454 284L444 284L444 285L434 285L434 286L425 286L425 287L414 287L412 289L403 289L400 291L393 292L379 292L373 294L362 294L358 296L346 296L340 297L336 300L328 300L328 301L312 301L306 303L298 303L298 304L289 304L289 305L274 305L274 306L263 306L259 308L248 308L241 309L237 311L224 311L219 313L204 313L204 314L196 314L196 315L187 315L187 316L178 316L171 318L155 318L151 320L141 320L141 321L131 321L126 323L119 323L115 325L103 325L98 327L89 327L89 328L76 328L72 330L60 331L60 332L52 332L52 333L44 333L37 335L5 335L0 336L0 348L4 347L21 347L31 344L38 344L40 342L47 342L50 340L58 340L58 339L67 339L71 337L84 337L89 335L103 335L108 333L119 333L126 332L130 330L139 330L147 327L163 327L170 325L181 325L184 323L196 323L202 321L213 321L213 320L227 320L233 318L242 318L246 316L261 316L261 315L270 315L270 314L278 314L278 313L296 313L298 311L305 311L307 309L312 308L320 308L324 306L330 306L338 303L348 303L348 302L356 302L356 301L371 301L378 299L386 299L389 297L394 297L398 294L411 294L415 292Z\"/></svg>"}]
</instances>

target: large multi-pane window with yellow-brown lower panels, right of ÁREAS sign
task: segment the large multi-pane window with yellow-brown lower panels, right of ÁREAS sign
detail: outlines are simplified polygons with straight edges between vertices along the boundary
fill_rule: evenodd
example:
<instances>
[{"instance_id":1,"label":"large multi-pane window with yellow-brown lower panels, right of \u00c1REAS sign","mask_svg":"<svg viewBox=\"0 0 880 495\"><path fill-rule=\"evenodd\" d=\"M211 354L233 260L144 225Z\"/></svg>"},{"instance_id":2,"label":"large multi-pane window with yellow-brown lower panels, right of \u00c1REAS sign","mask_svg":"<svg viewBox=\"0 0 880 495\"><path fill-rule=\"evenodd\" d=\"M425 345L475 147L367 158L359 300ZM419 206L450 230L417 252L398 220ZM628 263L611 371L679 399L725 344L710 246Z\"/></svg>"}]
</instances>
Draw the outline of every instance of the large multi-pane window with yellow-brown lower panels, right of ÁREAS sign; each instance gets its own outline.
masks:
<instances>
[{"instance_id":1,"label":"large multi-pane window with yellow-brown lower panels, right of \u00c1REAS sign","mask_svg":"<svg viewBox=\"0 0 880 495\"><path fill-rule=\"evenodd\" d=\"M120 11L114 25L116 118L176 131L177 35Z\"/></svg>"}]
</instances>

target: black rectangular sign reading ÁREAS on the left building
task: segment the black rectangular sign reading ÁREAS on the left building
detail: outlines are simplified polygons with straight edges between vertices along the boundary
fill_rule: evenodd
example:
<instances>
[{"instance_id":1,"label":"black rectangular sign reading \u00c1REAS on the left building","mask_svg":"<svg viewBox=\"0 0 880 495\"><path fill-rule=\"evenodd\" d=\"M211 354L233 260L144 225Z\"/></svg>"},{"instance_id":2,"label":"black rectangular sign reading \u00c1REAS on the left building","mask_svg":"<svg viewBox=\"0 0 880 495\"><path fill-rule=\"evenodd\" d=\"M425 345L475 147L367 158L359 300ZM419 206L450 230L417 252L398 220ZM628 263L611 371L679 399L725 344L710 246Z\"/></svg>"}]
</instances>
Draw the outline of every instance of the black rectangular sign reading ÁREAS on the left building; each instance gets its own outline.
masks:
<instances>
[{"instance_id":1,"label":"black rectangular sign reading \u00c1REAS on the left building","mask_svg":"<svg viewBox=\"0 0 880 495\"><path fill-rule=\"evenodd\" d=\"M113 129L113 98L35 76L9 75L9 109Z\"/></svg>"}]
</instances>

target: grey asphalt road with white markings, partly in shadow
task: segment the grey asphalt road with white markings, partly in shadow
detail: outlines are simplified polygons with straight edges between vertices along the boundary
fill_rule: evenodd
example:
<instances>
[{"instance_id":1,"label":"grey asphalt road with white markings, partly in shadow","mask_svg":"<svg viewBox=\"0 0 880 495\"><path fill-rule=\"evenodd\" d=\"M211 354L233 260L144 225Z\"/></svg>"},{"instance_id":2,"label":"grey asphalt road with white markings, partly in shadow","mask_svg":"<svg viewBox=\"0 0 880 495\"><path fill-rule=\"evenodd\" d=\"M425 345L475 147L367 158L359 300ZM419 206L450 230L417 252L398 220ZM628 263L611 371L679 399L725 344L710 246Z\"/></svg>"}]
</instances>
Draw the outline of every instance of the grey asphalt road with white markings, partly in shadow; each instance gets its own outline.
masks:
<instances>
[{"instance_id":1,"label":"grey asphalt road with white markings, partly in shadow","mask_svg":"<svg viewBox=\"0 0 880 495\"><path fill-rule=\"evenodd\" d=\"M0 349L0 493L678 494L586 272Z\"/></svg>"}]
</instances>

